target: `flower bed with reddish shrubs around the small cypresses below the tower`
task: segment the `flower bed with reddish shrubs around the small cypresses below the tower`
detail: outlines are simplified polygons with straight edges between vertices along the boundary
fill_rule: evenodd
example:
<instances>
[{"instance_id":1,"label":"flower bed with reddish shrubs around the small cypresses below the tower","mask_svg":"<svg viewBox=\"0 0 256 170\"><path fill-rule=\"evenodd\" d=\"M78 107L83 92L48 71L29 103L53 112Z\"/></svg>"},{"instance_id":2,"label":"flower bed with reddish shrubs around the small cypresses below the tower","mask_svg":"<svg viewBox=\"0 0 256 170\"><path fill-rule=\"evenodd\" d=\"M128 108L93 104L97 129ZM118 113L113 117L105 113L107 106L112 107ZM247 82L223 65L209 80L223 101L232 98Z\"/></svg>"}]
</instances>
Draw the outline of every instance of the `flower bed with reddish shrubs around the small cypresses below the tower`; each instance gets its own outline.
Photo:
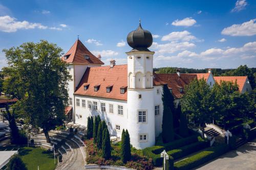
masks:
<instances>
[{"instance_id":1,"label":"flower bed with reddish shrubs around the small cypresses below the tower","mask_svg":"<svg viewBox=\"0 0 256 170\"><path fill-rule=\"evenodd\" d=\"M134 168L138 170L147 170L153 169L152 159L148 159L143 156L141 150L136 150L132 148L132 159L124 164L121 161L121 145L120 143L111 144L111 159L105 160L102 158L101 150L98 150L97 146L93 143L93 139L86 140L85 144L87 146L87 163L99 164L99 165L116 165L116 166L125 166L129 168Z\"/></svg>"}]
</instances>

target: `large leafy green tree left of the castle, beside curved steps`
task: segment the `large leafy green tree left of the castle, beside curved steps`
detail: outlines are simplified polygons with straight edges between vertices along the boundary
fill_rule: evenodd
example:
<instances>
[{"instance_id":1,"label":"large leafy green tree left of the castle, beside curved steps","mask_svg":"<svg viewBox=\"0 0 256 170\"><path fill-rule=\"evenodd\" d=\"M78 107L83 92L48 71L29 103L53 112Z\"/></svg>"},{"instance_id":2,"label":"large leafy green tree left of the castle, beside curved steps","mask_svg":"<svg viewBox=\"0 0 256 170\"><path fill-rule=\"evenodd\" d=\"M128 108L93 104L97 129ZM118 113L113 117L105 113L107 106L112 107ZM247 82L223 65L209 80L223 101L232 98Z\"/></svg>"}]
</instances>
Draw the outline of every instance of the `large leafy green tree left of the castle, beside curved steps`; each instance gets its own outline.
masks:
<instances>
[{"instance_id":1,"label":"large leafy green tree left of the castle, beside curved steps","mask_svg":"<svg viewBox=\"0 0 256 170\"><path fill-rule=\"evenodd\" d=\"M48 132L62 124L68 104L67 86L71 76L60 59L61 48L41 40L3 52L8 63L3 69L7 77L5 93L19 100L14 106L16 112L27 124L42 128L50 142Z\"/></svg>"}]
</instances>

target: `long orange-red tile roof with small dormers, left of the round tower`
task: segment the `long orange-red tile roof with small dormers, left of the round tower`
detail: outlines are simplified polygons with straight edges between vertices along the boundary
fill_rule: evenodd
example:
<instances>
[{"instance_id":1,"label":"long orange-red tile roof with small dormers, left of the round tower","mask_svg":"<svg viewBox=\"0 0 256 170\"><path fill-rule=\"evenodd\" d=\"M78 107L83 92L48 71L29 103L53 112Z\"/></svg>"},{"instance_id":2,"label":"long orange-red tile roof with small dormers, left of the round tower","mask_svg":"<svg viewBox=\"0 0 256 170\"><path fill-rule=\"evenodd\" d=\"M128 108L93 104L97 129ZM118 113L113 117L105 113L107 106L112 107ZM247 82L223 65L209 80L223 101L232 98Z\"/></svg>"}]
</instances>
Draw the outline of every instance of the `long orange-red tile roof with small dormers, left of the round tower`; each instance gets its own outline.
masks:
<instances>
[{"instance_id":1,"label":"long orange-red tile roof with small dormers, left of the round tower","mask_svg":"<svg viewBox=\"0 0 256 170\"><path fill-rule=\"evenodd\" d=\"M83 86L90 84L87 90ZM94 91L94 86L100 85L98 91ZM111 92L106 92L106 87L113 86ZM89 67L75 91L75 94L89 95L99 98L109 98L117 100L127 100L127 92L120 93L120 87L127 86L127 65L115 65L102 67Z\"/></svg>"}]
</instances>

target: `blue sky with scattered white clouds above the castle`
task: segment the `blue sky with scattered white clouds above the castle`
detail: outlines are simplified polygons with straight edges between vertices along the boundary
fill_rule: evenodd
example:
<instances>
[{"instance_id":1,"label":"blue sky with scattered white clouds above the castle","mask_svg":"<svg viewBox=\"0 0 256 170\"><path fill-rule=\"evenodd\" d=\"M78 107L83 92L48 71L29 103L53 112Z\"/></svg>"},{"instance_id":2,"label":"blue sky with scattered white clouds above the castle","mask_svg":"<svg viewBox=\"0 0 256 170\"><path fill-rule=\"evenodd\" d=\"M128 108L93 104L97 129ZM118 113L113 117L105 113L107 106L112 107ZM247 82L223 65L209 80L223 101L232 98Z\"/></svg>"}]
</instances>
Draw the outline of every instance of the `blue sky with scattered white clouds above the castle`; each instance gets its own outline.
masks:
<instances>
[{"instance_id":1,"label":"blue sky with scattered white clouds above the castle","mask_svg":"<svg viewBox=\"0 0 256 170\"><path fill-rule=\"evenodd\" d=\"M129 32L154 35L154 66L256 67L256 1L0 0L0 51L45 39L64 52L77 39L103 62L126 63ZM0 52L0 68L6 66Z\"/></svg>"}]
</instances>

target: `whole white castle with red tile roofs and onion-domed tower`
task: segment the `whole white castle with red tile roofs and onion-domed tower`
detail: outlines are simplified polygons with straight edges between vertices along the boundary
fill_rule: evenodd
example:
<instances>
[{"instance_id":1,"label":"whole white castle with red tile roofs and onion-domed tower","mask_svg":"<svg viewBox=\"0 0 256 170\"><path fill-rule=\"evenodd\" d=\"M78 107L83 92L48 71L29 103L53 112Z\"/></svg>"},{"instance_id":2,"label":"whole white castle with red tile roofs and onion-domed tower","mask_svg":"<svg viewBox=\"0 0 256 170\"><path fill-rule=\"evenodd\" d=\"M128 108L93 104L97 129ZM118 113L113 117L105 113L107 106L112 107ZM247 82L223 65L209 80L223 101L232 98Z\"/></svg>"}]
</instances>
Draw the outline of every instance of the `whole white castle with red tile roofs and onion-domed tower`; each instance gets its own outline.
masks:
<instances>
[{"instance_id":1,"label":"whole white castle with red tile roofs and onion-domed tower","mask_svg":"<svg viewBox=\"0 0 256 170\"><path fill-rule=\"evenodd\" d=\"M100 55L95 57L78 39L61 59L68 64L72 75L69 81L69 121L87 126L89 116L99 115L105 120L112 136L121 137L122 129L130 134L137 149L151 147L162 126L162 86L167 84L175 104L184 93L184 86L195 78L205 78L212 86L214 77L206 74L155 74L152 34L141 25L128 34L132 47L127 52L127 64L102 66Z\"/></svg>"}]
</instances>

